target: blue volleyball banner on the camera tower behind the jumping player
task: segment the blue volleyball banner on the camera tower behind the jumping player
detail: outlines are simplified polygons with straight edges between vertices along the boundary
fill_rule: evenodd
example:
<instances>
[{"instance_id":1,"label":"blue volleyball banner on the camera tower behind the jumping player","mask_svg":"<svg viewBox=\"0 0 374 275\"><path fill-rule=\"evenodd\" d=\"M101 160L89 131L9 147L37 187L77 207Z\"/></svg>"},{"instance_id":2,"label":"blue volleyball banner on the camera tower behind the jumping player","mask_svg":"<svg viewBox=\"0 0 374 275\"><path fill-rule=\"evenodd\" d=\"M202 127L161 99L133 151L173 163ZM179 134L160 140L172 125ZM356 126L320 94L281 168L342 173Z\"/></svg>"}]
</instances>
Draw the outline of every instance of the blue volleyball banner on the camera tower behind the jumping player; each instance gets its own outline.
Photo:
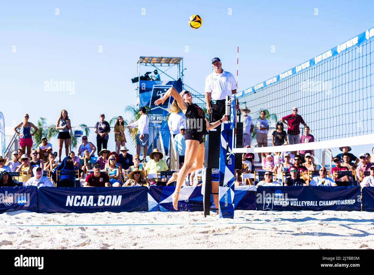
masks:
<instances>
[{"instance_id":1,"label":"blue volleyball banner on the camera tower behind the jumping player","mask_svg":"<svg viewBox=\"0 0 374 275\"><path fill-rule=\"evenodd\" d=\"M164 104L159 106L154 105L154 101L163 97L166 91L170 87L174 87L178 92L182 91L182 82L181 81L149 81L149 80L140 80L139 83L139 103L141 106L148 106L151 110L151 113L148 114L150 120L150 126L159 126L160 132L163 137L164 149L165 152L168 152L169 148L169 126L168 122L165 120L165 117L168 115L168 108L173 102L173 98L169 97Z\"/></svg>"}]
</instances>

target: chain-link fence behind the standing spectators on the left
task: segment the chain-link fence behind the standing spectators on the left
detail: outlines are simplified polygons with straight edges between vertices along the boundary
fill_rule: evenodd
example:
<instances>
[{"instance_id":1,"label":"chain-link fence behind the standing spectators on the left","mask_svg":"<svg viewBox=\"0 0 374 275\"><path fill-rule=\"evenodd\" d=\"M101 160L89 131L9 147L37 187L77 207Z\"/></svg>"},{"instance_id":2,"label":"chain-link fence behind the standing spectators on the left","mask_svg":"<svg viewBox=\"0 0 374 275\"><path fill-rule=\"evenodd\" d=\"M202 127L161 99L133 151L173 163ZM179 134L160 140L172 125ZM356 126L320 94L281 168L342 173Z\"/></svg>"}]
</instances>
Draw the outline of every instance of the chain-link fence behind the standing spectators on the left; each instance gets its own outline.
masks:
<instances>
[{"instance_id":1,"label":"chain-link fence behind the standing spectators on the left","mask_svg":"<svg viewBox=\"0 0 374 275\"><path fill-rule=\"evenodd\" d=\"M37 149L39 144L42 143L42 137L47 137L48 143L52 145L52 152L58 153L58 140L57 140L58 130L56 131L55 127L50 127L50 126L39 126L38 129L39 129L38 133L33 137L33 149ZM113 129L114 127L110 128L111 131L109 133L107 148L102 148L102 149L108 149L111 152L113 151L117 152ZM20 129L18 129L18 131L20 131ZM95 145L95 147L98 148L97 142L96 142L97 135L95 133L95 128L76 126L76 127L72 127L70 131L71 139L69 143L69 152L73 151L76 154L76 156L78 155L79 146L82 144L82 136L76 135L79 133L79 131L82 131L83 135L87 136L88 142L92 142L93 145ZM127 149L129 149L128 153L133 156L136 155L137 153L137 146L136 146L137 131L138 131L137 128L125 128L125 137L126 137L125 146L127 147ZM149 144L148 144L147 155L149 155L149 153L151 153L152 150L155 148L161 150L159 147L157 147L157 144L159 144L157 143L158 140L159 140L159 128L149 127ZM14 150L17 150L18 148L20 148L19 137L16 137L15 142L9 147L9 150L7 152L7 156L9 159L10 159L12 152ZM143 153L142 150L143 149L141 148L141 155ZM98 153L99 152L96 151L95 156L98 156ZM61 153L61 158L64 158L64 157L65 157L65 142L62 145L62 153Z\"/></svg>"}]
</instances>

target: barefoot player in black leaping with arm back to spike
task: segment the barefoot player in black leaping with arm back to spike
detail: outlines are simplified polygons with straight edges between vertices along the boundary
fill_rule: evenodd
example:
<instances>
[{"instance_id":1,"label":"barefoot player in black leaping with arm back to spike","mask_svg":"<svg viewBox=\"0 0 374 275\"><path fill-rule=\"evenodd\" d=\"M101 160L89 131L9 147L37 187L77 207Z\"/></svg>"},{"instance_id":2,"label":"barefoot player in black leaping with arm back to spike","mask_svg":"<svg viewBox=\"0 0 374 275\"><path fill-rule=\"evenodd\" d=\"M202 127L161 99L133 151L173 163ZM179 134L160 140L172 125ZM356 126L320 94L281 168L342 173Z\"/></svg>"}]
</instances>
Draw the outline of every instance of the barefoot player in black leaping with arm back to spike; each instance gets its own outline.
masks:
<instances>
[{"instance_id":1,"label":"barefoot player in black leaping with arm back to spike","mask_svg":"<svg viewBox=\"0 0 374 275\"><path fill-rule=\"evenodd\" d=\"M178 91L171 87L166 91L162 98L154 101L157 106L163 104L168 97L174 97L169 112L179 113L182 109L187 119L187 130L184 140L186 141L186 153L184 157L184 164L179 173L174 173L169 179L168 183L177 180L175 192L172 195L173 206L178 210L179 192L188 173L196 171L203 167L204 162L204 144L203 135L208 134L207 130L213 129L227 120L227 116L223 115L222 119L217 122L209 123L205 118L204 111L193 104L192 94L186 90L178 93Z\"/></svg>"}]
</instances>

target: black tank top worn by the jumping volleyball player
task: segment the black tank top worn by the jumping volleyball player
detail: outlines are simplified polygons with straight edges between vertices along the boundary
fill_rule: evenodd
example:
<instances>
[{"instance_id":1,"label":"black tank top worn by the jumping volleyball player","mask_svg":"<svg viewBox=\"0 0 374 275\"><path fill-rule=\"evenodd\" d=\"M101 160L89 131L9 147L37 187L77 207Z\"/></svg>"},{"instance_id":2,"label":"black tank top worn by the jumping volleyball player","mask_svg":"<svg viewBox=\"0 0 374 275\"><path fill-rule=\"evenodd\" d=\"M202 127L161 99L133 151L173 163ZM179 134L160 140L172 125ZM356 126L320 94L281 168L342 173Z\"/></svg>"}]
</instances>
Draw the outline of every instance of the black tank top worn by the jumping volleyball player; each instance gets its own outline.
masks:
<instances>
[{"instance_id":1,"label":"black tank top worn by the jumping volleyball player","mask_svg":"<svg viewBox=\"0 0 374 275\"><path fill-rule=\"evenodd\" d=\"M187 104L188 108L185 114L187 119L186 133L202 133L203 135L209 134L208 131L206 131L206 122L203 109L197 106L197 104Z\"/></svg>"}]
</instances>

